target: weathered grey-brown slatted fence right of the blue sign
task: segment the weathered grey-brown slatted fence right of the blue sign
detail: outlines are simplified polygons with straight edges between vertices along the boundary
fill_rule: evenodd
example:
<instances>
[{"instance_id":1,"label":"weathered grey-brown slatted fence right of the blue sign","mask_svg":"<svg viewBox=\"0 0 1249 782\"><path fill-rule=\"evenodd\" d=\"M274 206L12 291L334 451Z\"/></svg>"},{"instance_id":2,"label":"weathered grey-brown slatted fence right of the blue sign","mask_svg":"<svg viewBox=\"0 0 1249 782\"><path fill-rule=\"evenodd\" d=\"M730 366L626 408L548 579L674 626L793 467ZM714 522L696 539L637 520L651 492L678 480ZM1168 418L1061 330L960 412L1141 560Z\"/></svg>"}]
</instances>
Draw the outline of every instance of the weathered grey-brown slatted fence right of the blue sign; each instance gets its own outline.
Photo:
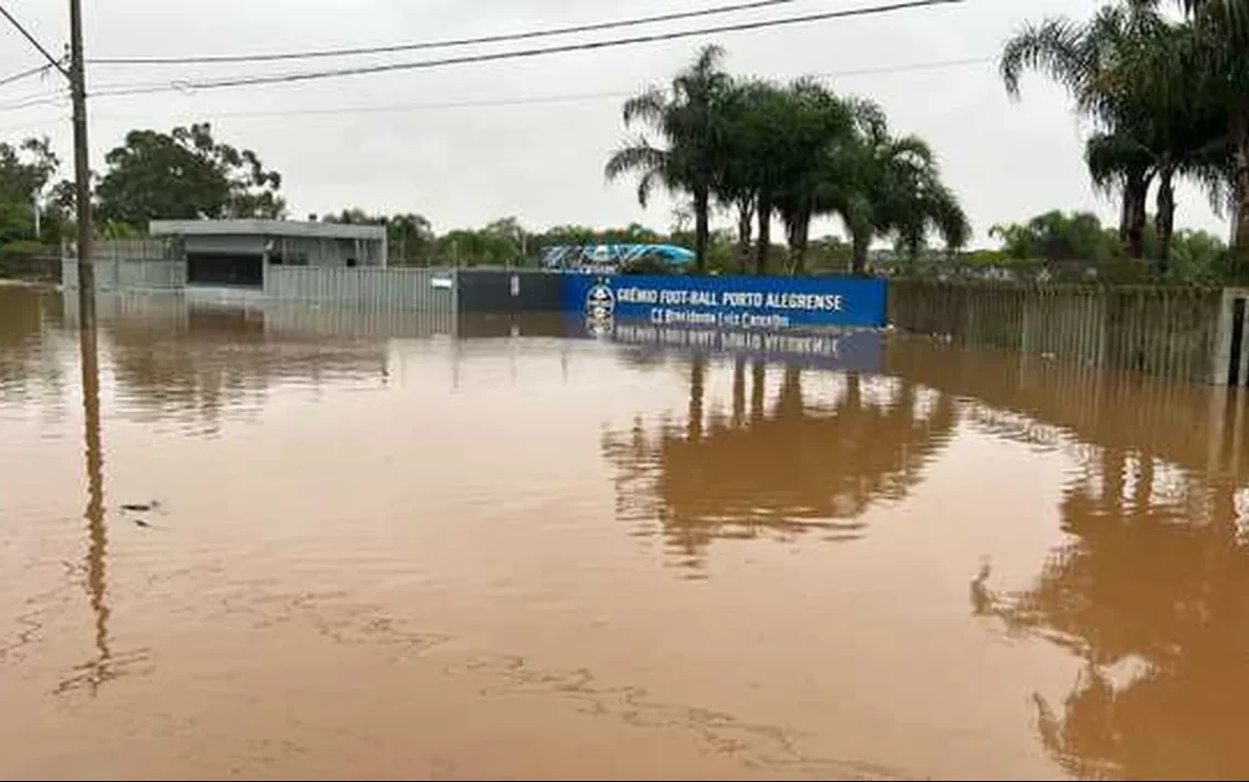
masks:
<instances>
[{"instance_id":1,"label":"weathered grey-brown slatted fence right of the blue sign","mask_svg":"<svg viewBox=\"0 0 1249 782\"><path fill-rule=\"evenodd\" d=\"M898 280L889 284L888 306L889 322L903 331L1174 381L1225 384L1237 352L1229 312L1234 291ZM1243 365L1249 370L1249 361Z\"/></svg>"}]
</instances>

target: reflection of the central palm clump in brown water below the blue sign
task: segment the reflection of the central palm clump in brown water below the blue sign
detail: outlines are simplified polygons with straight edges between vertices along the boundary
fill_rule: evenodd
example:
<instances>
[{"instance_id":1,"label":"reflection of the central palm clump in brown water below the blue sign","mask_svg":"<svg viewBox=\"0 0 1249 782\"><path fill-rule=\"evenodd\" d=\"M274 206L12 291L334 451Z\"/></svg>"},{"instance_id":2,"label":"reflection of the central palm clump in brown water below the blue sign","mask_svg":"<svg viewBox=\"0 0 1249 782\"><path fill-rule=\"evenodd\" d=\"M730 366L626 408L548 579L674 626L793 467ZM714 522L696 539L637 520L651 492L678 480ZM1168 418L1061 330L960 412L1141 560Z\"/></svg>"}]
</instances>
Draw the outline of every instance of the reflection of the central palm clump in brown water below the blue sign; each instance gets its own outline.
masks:
<instances>
[{"instance_id":1,"label":"reflection of the central palm clump in brown water below the blue sign","mask_svg":"<svg viewBox=\"0 0 1249 782\"><path fill-rule=\"evenodd\" d=\"M957 422L949 396L909 380L821 372L811 391L803 370L753 361L747 392L747 364L732 364L727 416L706 402L719 365L693 356L683 426L638 418L603 437L618 516L641 536L657 520L676 560L693 568L717 538L862 537L864 511L904 497ZM771 408L769 372L779 375Z\"/></svg>"}]
</instances>

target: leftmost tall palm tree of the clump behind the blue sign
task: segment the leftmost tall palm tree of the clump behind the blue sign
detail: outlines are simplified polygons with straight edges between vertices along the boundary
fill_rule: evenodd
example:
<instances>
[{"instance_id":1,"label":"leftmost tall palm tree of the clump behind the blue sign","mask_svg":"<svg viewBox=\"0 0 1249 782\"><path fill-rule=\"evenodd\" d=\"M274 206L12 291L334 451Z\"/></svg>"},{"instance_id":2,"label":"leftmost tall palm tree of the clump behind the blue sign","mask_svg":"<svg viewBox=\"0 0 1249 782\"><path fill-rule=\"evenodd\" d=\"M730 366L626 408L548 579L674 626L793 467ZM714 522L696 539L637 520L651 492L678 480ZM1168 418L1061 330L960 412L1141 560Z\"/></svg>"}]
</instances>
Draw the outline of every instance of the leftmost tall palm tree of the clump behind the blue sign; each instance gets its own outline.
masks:
<instances>
[{"instance_id":1,"label":"leftmost tall palm tree of the clump behind the blue sign","mask_svg":"<svg viewBox=\"0 0 1249 782\"><path fill-rule=\"evenodd\" d=\"M711 197L722 169L726 101L732 79L721 67L724 51L706 46L677 74L668 91L651 87L624 104L624 125L642 124L663 140L644 135L622 146L607 161L607 179L638 174L638 202L646 206L656 185L688 192L694 211L697 271L707 269Z\"/></svg>"}]
</instances>

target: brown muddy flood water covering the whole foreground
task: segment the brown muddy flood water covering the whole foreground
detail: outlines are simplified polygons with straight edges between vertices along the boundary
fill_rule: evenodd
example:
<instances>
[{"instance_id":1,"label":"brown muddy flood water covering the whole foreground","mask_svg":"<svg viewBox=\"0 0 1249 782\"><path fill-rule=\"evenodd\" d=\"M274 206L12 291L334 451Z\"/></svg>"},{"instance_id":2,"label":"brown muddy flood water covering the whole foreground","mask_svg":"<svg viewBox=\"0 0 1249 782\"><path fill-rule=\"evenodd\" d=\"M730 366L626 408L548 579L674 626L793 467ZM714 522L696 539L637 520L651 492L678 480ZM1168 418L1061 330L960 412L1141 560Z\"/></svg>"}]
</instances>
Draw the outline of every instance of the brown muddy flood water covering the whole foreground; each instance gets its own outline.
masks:
<instances>
[{"instance_id":1,"label":"brown muddy flood water covering the whole foreground","mask_svg":"<svg viewBox=\"0 0 1249 782\"><path fill-rule=\"evenodd\" d=\"M70 304L0 289L0 777L1249 775L1234 392Z\"/></svg>"}]
</instances>

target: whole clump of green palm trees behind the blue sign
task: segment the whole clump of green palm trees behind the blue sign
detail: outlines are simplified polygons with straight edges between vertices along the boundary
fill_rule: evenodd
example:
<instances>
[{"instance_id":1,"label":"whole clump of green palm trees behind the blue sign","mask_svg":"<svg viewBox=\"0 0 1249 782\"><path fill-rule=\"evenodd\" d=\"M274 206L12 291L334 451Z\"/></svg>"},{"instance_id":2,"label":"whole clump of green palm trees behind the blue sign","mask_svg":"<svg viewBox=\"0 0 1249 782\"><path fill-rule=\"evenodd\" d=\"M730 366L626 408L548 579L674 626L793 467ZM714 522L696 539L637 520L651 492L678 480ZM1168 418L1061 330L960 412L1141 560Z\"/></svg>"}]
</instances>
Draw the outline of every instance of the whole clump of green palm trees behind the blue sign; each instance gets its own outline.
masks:
<instances>
[{"instance_id":1,"label":"whole clump of green palm trees behind the blue sign","mask_svg":"<svg viewBox=\"0 0 1249 782\"><path fill-rule=\"evenodd\" d=\"M888 132L879 106L836 95L814 79L777 85L733 79L719 67L722 52L704 49L673 79L624 105L626 125L643 122L658 142L641 136L617 150L607 176L638 176L644 206L656 186L688 195L698 269L744 271L752 255L759 274L783 264L804 274L812 220L837 215L856 237L851 264L862 270L877 237L894 237L911 256L939 234L949 247L970 235L954 194L940 181L936 157L916 137ZM728 257L712 259L709 201L736 212L737 236ZM786 226L787 257L773 257L771 226ZM843 259L842 259L843 260ZM827 270L829 259L811 260Z\"/></svg>"}]
</instances>

